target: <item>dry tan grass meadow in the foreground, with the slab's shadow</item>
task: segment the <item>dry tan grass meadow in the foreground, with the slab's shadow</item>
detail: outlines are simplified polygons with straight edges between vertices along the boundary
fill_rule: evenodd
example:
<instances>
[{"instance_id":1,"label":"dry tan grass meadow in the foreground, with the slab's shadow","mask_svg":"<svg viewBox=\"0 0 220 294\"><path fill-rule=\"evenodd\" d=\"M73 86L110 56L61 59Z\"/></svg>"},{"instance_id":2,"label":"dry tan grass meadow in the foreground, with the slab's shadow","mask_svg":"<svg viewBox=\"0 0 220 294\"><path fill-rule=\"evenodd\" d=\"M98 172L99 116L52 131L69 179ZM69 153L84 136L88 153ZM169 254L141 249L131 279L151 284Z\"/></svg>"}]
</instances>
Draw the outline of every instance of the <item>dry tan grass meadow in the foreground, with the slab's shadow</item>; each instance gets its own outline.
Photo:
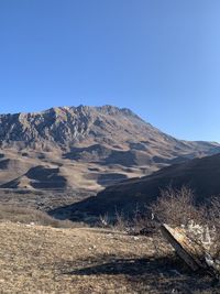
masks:
<instances>
[{"instance_id":1,"label":"dry tan grass meadow in the foreground, with the slab's shadow","mask_svg":"<svg viewBox=\"0 0 220 294\"><path fill-rule=\"evenodd\" d=\"M161 239L0 222L0 293L218 293Z\"/></svg>"}]
</instances>

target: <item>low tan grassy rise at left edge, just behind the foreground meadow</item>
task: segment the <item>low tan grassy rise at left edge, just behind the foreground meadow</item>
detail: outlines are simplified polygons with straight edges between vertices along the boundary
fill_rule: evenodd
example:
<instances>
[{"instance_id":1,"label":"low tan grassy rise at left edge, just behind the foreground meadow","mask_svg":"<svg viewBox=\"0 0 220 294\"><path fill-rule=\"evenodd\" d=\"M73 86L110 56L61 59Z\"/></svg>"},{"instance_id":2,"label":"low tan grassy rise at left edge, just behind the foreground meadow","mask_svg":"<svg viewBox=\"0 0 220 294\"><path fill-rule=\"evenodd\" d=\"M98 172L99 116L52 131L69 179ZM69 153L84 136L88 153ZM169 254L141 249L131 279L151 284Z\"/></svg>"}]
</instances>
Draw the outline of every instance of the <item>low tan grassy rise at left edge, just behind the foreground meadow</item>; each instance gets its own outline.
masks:
<instances>
[{"instance_id":1,"label":"low tan grassy rise at left edge, just behind the foreground meadow","mask_svg":"<svg viewBox=\"0 0 220 294\"><path fill-rule=\"evenodd\" d=\"M12 222L35 224L51 226L54 228L73 228L74 224L69 220L58 220L48 216L46 213L28 207L13 205L0 205L0 220Z\"/></svg>"}]
</instances>

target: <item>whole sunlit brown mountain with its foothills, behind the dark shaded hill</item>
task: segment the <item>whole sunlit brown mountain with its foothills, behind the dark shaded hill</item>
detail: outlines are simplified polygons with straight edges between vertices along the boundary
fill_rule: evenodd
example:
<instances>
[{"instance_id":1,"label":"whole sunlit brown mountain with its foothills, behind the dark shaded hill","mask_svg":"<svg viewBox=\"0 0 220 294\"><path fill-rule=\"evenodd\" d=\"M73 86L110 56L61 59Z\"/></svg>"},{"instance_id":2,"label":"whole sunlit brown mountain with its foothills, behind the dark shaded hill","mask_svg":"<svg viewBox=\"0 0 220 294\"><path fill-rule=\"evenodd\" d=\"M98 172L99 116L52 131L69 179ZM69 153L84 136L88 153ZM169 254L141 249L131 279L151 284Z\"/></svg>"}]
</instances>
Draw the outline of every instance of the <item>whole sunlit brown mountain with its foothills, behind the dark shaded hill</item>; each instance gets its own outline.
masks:
<instances>
[{"instance_id":1,"label":"whole sunlit brown mountain with its foothills, behind the dark shaded hill","mask_svg":"<svg viewBox=\"0 0 220 294\"><path fill-rule=\"evenodd\" d=\"M218 152L218 143L177 140L113 106L0 115L1 188L100 190Z\"/></svg>"}]
</instances>

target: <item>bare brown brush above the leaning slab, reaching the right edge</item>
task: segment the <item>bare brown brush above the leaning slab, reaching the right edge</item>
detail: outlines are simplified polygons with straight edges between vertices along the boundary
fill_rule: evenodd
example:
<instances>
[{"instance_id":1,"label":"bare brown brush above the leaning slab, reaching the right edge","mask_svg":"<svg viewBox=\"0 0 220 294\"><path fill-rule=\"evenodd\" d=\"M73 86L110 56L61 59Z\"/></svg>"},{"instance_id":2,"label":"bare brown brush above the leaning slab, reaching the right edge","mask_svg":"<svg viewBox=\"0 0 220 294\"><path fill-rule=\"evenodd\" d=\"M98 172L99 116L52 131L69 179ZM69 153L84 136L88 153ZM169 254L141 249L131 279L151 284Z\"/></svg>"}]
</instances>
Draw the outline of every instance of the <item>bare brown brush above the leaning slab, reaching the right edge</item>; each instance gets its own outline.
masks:
<instances>
[{"instance_id":1,"label":"bare brown brush above the leaning slab, reaching the right edge","mask_svg":"<svg viewBox=\"0 0 220 294\"><path fill-rule=\"evenodd\" d=\"M211 197L208 204L196 205L191 189L167 188L162 190L161 197L151 206L156 219L172 226L187 226L191 221L209 227L216 231L219 242L220 237L220 197Z\"/></svg>"}]
</instances>

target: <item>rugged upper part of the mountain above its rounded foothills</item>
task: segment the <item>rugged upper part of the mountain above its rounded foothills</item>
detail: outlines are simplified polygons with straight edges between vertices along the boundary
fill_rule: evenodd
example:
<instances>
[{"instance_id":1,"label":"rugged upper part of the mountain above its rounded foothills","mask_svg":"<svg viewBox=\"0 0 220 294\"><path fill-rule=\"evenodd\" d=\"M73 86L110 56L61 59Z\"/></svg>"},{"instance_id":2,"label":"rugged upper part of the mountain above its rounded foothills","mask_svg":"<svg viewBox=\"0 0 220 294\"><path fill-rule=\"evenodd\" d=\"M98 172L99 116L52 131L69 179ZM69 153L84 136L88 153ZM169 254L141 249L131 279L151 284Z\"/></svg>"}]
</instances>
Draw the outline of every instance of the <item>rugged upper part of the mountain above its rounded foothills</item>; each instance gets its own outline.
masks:
<instances>
[{"instance_id":1,"label":"rugged upper part of the mountain above its rounded foothills","mask_svg":"<svg viewBox=\"0 0 220 294\"><path fill-rule=\"evenodd\" d=\"M186 142L167 135L129 109L103 107L59 107L36 113L0 115L2 146L63 148L106 144L152 153L164 150L212 152L215 143Z\"/></svg>"}]
</instances>

